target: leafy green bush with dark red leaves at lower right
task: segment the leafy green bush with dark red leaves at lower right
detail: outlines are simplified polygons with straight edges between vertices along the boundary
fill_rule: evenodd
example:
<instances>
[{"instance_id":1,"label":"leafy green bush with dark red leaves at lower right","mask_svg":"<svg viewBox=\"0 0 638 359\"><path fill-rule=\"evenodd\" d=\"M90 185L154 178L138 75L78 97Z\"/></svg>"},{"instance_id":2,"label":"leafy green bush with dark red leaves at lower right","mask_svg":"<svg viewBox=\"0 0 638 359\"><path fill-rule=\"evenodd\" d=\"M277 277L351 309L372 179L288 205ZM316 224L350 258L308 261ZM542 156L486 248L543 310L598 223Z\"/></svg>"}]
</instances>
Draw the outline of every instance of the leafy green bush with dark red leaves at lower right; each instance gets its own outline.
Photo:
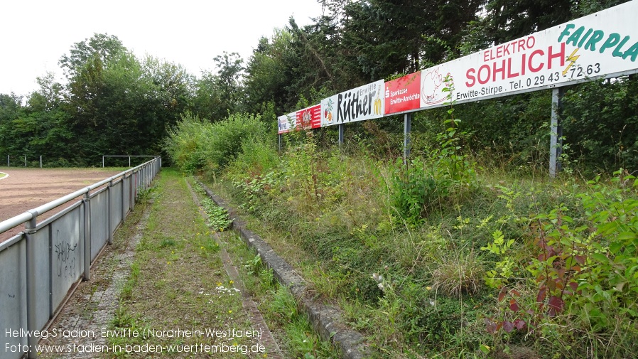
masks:
<instances>
[{"instance_id":1,"label":"leafy green bush with dark red leaves at lower right","mask_svg":"<svg viewBox=\"0 0 638 359\"><path fill-rule=\"evenodd\" d=\"M494 242L482 248L502 259L487 274L501 304L497 318L487 319L487 330L547 338L571 348L561 353L566 358L585 350L595 358L635 357L637 189L636 178L620 170L610 183L599 176L575 188L575 208L561 203L547 212L513 213L510 220L526 230L524 247L514 250L515 241L497 230ZM504 195L512 203L519 193ZM526 281L517 278L521 269Z\"/></svg>"}]
</instances>

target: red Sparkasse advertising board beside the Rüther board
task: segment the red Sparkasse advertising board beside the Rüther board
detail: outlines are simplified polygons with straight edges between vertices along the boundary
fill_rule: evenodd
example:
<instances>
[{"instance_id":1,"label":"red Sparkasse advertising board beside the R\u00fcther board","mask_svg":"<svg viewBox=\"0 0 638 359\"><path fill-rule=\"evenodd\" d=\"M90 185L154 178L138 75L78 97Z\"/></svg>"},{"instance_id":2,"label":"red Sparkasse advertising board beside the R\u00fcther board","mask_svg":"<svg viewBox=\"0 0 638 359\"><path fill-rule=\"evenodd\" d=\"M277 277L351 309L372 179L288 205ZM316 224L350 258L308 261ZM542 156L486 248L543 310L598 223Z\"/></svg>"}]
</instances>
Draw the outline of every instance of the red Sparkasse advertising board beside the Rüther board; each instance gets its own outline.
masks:
<instances>
[{"instance_id":1,"label":"red Sparkasse advertising board beside the R\u00fcther board","mask_svg":"<svg viewBox=\"0 0 638 359\"><path fill-rule=\"evenodd\" d=\"M385 114L421 107L421 73L413 73L385 83Z\"/></svg>"}]
</instances>

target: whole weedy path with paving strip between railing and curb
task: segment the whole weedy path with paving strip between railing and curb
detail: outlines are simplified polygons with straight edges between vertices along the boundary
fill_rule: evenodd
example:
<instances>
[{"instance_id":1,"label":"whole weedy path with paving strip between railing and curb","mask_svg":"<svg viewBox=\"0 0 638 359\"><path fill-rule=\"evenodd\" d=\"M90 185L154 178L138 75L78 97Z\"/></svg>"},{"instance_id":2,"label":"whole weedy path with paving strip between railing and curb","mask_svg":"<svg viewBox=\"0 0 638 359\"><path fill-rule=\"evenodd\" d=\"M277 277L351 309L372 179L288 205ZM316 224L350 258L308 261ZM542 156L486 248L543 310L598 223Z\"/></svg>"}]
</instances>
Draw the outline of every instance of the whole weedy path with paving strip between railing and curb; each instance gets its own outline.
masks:
<instances>
[{"instance_id":1,"label":"whole weedy path with paving strip between railing and curb","mask_svg":"<svg viewBox=\"0 0 638 359\"><path fill-rule=\"evenodd\" d=\"M88 336L41 340L55 351L42 357L276 358L242 306L241 285L225 271L215 234L184 178L164 169L149 196L152 203L127 218L92 279L49 328ZM78 353L96 345L109 353Z\"/></svg>"}]
</instances>

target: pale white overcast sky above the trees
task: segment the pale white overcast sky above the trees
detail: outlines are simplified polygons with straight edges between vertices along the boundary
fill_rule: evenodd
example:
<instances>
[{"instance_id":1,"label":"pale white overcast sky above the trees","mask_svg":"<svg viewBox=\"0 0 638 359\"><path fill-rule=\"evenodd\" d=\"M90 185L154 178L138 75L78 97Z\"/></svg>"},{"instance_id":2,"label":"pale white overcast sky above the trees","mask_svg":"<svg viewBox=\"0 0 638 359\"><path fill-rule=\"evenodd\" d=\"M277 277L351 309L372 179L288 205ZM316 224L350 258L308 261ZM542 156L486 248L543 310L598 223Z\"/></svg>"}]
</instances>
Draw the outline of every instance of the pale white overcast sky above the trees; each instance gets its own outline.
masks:
<instances>
[{"instance_id":1,"label":"pale white overcast sky above the trees","mask_svg":"<svg viewBox=\"0 0 638 359\"><path fill-rule=\"evenodd\" d=\"M60 57L94 33L117 36L140 59L152 55L199 76L224 51L245 63L259 38L290 16L305 25L321 15L316 0L11 0L0 9L0 93L16 95L36 90L47 71L60 77Z\"/></svg>"}]
</instances>

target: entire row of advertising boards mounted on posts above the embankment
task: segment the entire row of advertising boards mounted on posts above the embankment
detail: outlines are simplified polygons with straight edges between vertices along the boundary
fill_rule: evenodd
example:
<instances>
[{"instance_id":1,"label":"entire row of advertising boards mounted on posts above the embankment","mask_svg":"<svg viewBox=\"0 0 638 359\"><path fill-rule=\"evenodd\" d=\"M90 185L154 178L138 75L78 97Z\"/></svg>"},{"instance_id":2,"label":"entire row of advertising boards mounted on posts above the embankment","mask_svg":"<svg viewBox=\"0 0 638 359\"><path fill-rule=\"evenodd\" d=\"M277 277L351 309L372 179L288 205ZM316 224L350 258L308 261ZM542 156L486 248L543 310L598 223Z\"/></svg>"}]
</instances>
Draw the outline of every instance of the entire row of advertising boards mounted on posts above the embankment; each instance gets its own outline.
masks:
<instances>
[{"instance_id":1,"label":"entire row of advertising boards mounted on posts above the embankment","mask_svg":"<svg viewBox=\"0 0 638 359\"><path fill-rule=\"evenodd\" d=\"M629 1L396 80L341 92L321 100L320 126L638 73L636 14L638 0ZM279 117L279 133L294 128L296 118L293 114L291 124Z\"/></svg>"}]
</instances>

